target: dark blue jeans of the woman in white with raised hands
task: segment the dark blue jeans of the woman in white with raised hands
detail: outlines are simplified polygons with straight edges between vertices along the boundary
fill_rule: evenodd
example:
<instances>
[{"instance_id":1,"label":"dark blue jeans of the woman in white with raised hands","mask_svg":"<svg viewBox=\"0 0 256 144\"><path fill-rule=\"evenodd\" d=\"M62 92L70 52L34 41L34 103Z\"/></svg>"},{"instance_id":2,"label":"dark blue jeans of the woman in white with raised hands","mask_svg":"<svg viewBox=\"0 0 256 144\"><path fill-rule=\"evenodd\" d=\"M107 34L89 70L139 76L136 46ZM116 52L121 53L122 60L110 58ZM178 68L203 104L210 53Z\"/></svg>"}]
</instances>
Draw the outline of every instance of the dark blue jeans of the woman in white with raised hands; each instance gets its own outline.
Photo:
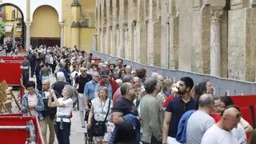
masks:
<instances>
[{"instance_id":1,"label":"dark blue jeans of the woman in white with raised hands","mask_svg":"<svg viewBox=\"0 0 256 144\"><path fill-rule=\"evenodd\" d=\"M55 132L58 139L58 144L70 144L70 128L71 122L63 122L63 129L59 128L60 122L56 122Z\"/></svg>"}]
</instances>

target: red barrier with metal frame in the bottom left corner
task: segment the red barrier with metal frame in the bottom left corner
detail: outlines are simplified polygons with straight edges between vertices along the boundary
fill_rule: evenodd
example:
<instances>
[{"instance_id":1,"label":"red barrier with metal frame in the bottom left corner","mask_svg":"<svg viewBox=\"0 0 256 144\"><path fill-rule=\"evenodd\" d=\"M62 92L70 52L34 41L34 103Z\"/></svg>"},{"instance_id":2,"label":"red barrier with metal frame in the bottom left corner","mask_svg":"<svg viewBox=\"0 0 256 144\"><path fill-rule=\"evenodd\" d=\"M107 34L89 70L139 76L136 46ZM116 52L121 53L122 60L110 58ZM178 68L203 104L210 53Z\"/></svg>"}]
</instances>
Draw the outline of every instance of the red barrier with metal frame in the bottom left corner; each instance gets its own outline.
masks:
<instances>
[{"instance_id":1,"label":"red barrier with metal frame in the bottom left corner","mask_svg":"<svg viewBox=\"0 0 256 144\"><path fill-rule=\"evenodd\" d=\"M38 118L22 117L20 114L0 115L1 143L43 144Z\"/></svg>"}]
</instances>

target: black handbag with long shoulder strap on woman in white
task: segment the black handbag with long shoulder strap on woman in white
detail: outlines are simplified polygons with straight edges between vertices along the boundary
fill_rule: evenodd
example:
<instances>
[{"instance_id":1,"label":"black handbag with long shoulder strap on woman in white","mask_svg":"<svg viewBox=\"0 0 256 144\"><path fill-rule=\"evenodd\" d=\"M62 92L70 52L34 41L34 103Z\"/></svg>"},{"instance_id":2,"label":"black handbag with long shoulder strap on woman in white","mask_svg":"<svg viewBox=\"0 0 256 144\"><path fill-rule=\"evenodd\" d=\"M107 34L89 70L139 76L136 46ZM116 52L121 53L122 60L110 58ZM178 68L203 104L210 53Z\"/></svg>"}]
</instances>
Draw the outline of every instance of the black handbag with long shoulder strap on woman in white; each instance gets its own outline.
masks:
<instances>
[{"instance_id":1,"label":"black handbag with long shoulder strap on woman in white","mask_svg":"<svg viewBox=\"0 0 256 144\"><path fill-rule=\"evenodd\" d=\"M110 102L111 102L111 99L110 99ZM106 133L106 118L110 112L110 102L109 102L108 110L106 112L106 117L104 121L98 122L95 119L93 120L90 130L88 130L90 135L98 137L98 136L104 136L104 134Z\"/></svg>"}]
</instances>

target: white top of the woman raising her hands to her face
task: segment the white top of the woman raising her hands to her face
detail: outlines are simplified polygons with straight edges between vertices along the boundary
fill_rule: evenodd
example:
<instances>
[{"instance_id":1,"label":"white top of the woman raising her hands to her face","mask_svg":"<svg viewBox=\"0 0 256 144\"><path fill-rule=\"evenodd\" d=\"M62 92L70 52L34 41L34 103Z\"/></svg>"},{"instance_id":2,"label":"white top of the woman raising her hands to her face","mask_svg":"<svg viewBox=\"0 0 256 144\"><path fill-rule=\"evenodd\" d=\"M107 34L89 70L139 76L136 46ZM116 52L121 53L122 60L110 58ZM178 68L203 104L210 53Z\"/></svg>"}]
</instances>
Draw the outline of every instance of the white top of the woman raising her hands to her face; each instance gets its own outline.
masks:
<instances>
[{"instance_id":1,"label":"white top of the woman raising her hands to her face","mask_svg":"<svg viewBox=\"0 0 256 144\"><path fill-rule=\"evenodd\" d=\"M63 101L64 98L58 98L59 103L64 103L65 107L57 107L57 118L56 122L61 122L61 118L58 118L58 116L62 115L70 115L71 110L73 108L73 100L71 98L66 99ZM63 122L70 122L69 118L63 118Z\"/></svg>"}]
</instances>

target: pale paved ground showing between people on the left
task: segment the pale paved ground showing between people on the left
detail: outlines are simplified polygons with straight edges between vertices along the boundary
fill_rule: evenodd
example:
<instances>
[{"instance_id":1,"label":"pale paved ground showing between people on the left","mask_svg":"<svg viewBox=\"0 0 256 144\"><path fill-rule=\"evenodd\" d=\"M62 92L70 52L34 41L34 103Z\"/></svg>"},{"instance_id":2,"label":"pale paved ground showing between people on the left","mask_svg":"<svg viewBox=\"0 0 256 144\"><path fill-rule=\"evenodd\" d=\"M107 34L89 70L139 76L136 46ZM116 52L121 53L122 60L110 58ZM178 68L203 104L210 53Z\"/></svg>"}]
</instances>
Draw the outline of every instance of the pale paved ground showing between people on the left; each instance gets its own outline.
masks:
<instances>
[{"instance_id":1,"label":"pale paved ground showing between people on the left","mask_svg":"<svg viewBox=\"0 0 256 144\"><path fill-rule=\"evenodd\" d=\"M30 78L30 80L35 81L34 78ZM50 76L51 84L56 80L53 76ZM18 95L18 91L14 91L14 95ZM13 103L13 112L18 112L17 107ZM70 143L71 144L83 144L85 143L84 133L86 132L86 128L81 127L79 112L77 110L73 110L73 118L71 118L71 131L70 131ZM49 134L49 132L48 132ZM54 144L58 144L58 140L55 137Z\"/></svg>"}]
</instances>

